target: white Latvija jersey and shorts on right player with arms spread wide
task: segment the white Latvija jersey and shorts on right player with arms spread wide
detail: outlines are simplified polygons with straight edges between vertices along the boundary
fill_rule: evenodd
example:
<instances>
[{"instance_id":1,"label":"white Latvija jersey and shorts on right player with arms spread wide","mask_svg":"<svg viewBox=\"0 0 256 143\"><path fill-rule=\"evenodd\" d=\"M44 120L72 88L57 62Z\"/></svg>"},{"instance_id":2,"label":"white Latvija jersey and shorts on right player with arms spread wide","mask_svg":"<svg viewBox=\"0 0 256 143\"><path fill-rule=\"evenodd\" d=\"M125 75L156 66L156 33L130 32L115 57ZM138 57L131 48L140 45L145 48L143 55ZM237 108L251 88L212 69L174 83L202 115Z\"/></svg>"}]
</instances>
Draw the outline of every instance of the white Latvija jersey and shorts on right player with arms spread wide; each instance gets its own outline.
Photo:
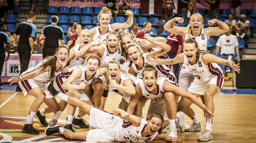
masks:
<instances>
[{"instance_id":1,"label":"white Latvija jersey and shorts on right player with arms spread wide","mask_svg":"<svg viewBox=\"0 0 256 143\"><path fill-rule=\"evenodd\" d=\"M219 91L224 83L223 72L216 63L204 64L202 54L196 64L190 65L187 57L184 57L186 68L195 76L188 91L195 94L204 95L204 91L209 84L214 84L219 88Z\"/></svg>"}]
</instances>

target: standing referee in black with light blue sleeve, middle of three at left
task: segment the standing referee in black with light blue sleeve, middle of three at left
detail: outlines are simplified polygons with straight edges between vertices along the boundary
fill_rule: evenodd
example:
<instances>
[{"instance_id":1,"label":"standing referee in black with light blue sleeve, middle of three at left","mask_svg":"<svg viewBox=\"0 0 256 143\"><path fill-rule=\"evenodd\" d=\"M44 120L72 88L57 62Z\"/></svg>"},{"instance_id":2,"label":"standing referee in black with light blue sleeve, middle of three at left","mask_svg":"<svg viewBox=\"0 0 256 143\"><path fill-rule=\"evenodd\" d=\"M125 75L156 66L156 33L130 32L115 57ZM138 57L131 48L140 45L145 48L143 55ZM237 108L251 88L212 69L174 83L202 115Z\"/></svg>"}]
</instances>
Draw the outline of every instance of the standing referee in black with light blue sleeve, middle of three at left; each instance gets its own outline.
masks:
<instances>
[{"instance_id":1,"label":"standing referee in black with light blue sleeve, middle of three at left","mask_svg":"<svg viewBox=\"0 0 256 143\"><path fill-rule=\"evenodd\" d=\"M15 43L18 44L18 53L20 57L20 74L28 69L30 56L34 51L34 40L36 35L36 26L32 24L36 19L36 13L29 12L28 20L21 22L15 30L13 37ZM18 39L20 35L20 39ZM17 85L16 91L22 91Z\"/></svg>"}]
</instances>

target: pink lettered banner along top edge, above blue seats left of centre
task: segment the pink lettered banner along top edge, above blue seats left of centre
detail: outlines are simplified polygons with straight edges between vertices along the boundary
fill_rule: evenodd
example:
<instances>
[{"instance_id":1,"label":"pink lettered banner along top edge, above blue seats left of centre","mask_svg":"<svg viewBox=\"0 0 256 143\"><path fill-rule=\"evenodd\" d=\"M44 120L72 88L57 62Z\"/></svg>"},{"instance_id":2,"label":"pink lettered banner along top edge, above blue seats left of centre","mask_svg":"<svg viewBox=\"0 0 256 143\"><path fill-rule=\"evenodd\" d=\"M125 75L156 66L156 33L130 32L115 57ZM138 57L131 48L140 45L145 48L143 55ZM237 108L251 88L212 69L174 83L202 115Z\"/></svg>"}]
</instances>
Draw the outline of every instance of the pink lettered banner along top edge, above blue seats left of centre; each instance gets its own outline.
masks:
<instances>
[{"instance_id":1,"label":"pink lettered banner along top edge, above blue seats left of centre","mask_svg":"<svg viewBox=\"0 0 256 143\"><path fill-rule=\"evenodd\" d=\"M88 7L103 7L105 0L49 0L49 6L88 6ZM140 8L140 0L116 0L121 6L126 3L131 8Z\"/></svg>"}]
</instances>

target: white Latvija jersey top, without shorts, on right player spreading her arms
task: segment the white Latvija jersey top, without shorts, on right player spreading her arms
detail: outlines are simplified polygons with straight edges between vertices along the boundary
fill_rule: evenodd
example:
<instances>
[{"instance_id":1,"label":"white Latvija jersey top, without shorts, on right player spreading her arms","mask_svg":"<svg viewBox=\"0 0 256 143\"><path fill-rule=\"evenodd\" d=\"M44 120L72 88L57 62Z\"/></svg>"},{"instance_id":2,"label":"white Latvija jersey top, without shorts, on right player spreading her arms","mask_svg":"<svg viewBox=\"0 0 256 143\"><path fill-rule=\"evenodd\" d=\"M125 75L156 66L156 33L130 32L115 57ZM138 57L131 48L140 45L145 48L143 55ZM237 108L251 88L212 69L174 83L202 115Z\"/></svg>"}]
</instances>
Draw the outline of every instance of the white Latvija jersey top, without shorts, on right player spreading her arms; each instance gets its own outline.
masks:
<instances>
[{"instance_id":1,"label":"white Latvija jersey top, without shorts, on right player spreading her arms","mask_svg":"<svg viewBox=\"0 0 256 143\"><path fill-rule=\"evenodd\" d=\"M184 56L184 65L195 76L194 80L198 80L201 83L208 82L214 76L218 76L219 82L222 82L224 78L223 72L218 64L211 62L207 65L204 64L202 54L200 54L199 60L194 65L190 65L187 57Z\"/></svg>"}]
</instances>

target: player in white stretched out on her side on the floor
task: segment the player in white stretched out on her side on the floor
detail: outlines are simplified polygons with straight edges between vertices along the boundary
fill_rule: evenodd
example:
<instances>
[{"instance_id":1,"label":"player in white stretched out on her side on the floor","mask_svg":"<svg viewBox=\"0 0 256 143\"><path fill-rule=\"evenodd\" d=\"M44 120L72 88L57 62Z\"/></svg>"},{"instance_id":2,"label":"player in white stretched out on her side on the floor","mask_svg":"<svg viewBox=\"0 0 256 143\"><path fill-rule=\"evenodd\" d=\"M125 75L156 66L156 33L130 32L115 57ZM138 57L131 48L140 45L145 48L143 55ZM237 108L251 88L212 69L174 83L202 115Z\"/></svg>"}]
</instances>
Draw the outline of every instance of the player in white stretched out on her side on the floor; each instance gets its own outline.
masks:
<instances>
[{"instance_id":1,"label":"player in white stretched out on her side on the floor","mask_svg":"<svg viewBox=\"0 0 256 143\"><path fill-rule=\"evenodd\" d=\"M146 121L140 117L129 115L119 108L113 109L112 112L114 114L111 114L74 97L65 94L58 94L57 96L90 115L93 128L85 132L72 132L58 125L56 127L47 127L44 131L46 135L61 132L68 139L89 142L147 143L152 140L163 140L165 142L182 143L180 138L169 137L161 132L161 128L168 123L158 113L152 114Z\"/></svg>"}]
</instances>

